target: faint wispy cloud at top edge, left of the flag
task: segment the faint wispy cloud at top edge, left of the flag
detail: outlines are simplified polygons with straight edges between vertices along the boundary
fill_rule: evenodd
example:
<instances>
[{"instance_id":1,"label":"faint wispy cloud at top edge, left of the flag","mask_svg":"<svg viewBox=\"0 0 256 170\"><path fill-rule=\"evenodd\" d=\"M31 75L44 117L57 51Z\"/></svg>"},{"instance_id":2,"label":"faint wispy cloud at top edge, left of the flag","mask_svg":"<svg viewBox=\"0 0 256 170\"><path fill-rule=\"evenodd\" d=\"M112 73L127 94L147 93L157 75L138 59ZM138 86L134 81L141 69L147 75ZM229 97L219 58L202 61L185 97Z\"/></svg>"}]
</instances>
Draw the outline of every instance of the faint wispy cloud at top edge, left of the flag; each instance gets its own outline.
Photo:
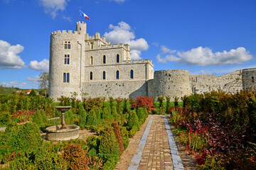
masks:
<instances>
[{"instance_id":1,"label":"faint wispy cloud at top edge, left of the flag","mask_svg":"<svg viewBox=\"0 0 256 170\"><path fill-rule=\"evenodd\" d=\"M55 18L58 11L64 11L69 0L40 0L45 13L50 13Z\"/></svg>"}]
</instances>

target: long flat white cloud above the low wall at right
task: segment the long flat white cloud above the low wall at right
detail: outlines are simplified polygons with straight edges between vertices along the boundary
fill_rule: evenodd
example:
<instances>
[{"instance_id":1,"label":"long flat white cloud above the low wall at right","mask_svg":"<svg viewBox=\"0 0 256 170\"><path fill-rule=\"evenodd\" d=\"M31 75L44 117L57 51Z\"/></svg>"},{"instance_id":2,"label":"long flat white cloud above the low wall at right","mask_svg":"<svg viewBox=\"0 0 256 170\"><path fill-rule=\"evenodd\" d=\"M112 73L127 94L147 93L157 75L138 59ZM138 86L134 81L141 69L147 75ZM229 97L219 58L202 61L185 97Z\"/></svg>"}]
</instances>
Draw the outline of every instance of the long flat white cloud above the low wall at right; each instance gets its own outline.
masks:
<instances>
[{"instance_id":1,"label":"long flat white cloud above the low wall at right","mask_svg":"<svg viewBox=\"0 0 256 170\"><path fill-rule=\"evenodd\" d=\"M167 54L165 57L161 55ZM230 51L213 52L209 47L197 47L187 52L177 52L168 48L161 47L161 54L156 56L158 62L180 62L188 65L225 65L241 64L252 60L252 55L244 47L238 47Z\"/></svg>"}]
</instances>

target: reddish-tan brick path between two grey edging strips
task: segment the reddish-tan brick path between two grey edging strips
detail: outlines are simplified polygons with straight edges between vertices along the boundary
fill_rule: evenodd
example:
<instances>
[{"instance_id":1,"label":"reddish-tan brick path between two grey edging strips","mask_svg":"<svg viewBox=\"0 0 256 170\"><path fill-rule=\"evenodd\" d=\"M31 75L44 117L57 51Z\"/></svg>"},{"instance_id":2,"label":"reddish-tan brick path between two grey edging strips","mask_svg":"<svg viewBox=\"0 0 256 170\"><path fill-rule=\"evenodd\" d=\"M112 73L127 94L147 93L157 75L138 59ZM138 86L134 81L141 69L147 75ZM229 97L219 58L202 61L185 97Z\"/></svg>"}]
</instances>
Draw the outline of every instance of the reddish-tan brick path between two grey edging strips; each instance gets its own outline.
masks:
<instances>
[{"instance_id":1,"label":"reddish-tan brick path between two grey edging strips","mask_svg":"<svg viewBox=\"0 0 256 170\"><path fill-rule=\"evenodd\" d=\"M138 169L174 169L164 118L162 115L153 116L154 120Z\"/></svg>"}]
</instances>

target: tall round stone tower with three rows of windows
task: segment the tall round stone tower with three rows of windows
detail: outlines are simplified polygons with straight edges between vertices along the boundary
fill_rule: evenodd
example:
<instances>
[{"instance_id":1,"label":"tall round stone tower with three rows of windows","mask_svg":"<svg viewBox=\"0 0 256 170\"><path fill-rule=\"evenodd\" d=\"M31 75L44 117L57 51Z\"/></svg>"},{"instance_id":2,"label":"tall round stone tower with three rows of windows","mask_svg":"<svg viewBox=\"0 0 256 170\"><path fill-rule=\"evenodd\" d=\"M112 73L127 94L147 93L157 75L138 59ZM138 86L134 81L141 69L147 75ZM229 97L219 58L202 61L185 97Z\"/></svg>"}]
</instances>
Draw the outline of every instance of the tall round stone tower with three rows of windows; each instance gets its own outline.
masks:
<instances>
[{"instance_id":1,"label":"tall round stone tower with three rows of windows","mask_svg":"<svg viewBox=\"0 0 256 170\"><path fill-rule=\"evenodd\" d=\"M50 35L49 96L54 101L60 96L81 95L80 37L72 30L58 30Z\"/></svg>"}]
</instances>

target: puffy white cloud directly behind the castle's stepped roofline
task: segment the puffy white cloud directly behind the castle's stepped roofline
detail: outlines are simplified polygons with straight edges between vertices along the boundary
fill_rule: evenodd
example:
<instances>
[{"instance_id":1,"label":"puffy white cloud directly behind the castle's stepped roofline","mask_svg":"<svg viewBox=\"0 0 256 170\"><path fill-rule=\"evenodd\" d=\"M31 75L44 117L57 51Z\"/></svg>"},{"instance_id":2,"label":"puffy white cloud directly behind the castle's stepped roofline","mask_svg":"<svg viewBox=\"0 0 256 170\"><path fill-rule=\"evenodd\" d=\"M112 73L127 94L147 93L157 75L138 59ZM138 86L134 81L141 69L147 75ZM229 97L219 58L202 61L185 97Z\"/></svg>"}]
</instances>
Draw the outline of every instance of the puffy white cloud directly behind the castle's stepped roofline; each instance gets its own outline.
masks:
<instances>
[{"instance_id":1,"label":"puffy white cloud directly behind the castle's stepped roofline","mask_svg":"<svg viewBox=\"0 0 256 170\"><path fill-rule=\"evenodd\" d=\"M110 40L112 44L125 43L130 45L132 60L139 60L143 50L148 50L149 45L144 38L135 39L135 34L131 30L131 26L124 21L119 22L117 26L110 24L110 32L104 36Z\"/></svg>"}]
</instances>

